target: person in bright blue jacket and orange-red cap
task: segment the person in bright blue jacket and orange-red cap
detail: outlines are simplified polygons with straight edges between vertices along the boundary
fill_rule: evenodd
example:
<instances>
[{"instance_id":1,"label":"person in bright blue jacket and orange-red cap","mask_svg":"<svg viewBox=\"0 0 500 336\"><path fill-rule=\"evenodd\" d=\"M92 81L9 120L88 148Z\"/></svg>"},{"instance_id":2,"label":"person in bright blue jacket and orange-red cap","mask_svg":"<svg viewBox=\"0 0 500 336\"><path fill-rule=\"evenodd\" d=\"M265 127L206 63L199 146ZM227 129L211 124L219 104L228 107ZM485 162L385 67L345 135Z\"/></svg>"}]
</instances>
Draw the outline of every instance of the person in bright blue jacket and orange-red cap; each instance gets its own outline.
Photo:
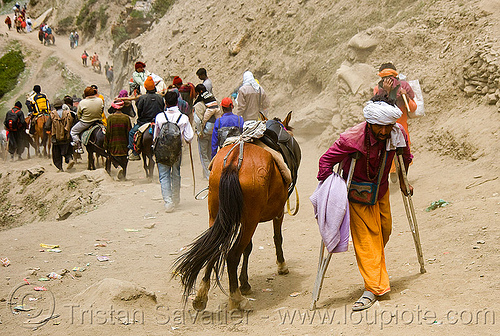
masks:
<instances>
[{"instance_id":1,"label":"person in bright blue jacket and orange-red cap","mask_svg":"<svg viewBox=\"0 0 500 336\"><path fill-rule=\"evenodd\" d=\"M220 105L224 114L215 121L212 132L212 159L227 138L238 136L243 131L243 118L233 113L231 98L222 99Z\"/></svg>"}]
</instances>

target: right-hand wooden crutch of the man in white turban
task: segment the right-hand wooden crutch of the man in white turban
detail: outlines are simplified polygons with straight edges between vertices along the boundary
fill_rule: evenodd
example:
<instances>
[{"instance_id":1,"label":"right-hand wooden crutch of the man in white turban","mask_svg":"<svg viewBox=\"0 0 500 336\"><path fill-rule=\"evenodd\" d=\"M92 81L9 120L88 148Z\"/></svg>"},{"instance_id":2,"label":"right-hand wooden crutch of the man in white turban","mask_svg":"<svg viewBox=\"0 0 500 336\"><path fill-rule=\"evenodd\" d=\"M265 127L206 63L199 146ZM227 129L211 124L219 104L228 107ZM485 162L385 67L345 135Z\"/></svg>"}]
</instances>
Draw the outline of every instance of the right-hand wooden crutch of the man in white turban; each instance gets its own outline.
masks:
<instances>
[{"instance_id":1,"label":"right-hand wooden crutch of the man in white turban","mask_svg":"<svg viewBox=\"0 0 500 336\"><path fill-rule=\"evenodd\" d=\"M406 169L403 161L403 149L398 148L396 150L397 159L394 160L396 163L396 169L400 172L400 176L403 177L403 181L406 188L406 194L401 191L401 196L403 197L403 204L405 206L406 217L408 217L408 224L410 224L410 231L413 236L413 242L415 243L415 250L417 251L418 263L420 264L420 273L425 273L424 267L424 255L422 253L422 245L420 244L420 234L418 233L417 216L415 215L415 208L413 207L413 201L410 195L410 184L408 183L408 177L406 175Z\"/></svg>"}]
</instances>

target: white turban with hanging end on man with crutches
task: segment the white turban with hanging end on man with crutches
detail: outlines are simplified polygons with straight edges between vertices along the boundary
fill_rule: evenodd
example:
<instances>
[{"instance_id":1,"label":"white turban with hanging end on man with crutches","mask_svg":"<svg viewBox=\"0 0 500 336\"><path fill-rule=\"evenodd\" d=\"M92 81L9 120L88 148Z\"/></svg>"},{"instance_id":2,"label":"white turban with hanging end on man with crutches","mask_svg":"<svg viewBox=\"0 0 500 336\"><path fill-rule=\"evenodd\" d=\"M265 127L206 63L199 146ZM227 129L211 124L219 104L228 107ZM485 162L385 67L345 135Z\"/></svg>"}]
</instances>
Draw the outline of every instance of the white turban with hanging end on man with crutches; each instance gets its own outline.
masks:
<instances>
[{"instance_id":1,"label":"white turban with hanging end on man with crutches","mask_svg":"<svg viewBox=\"0 0 500 336\"><path fill-rule=\"evenodd\" d=\"M387 139L386 150L395 150L397 147L406 147L403 131L396 121L403 112L397 107L383 101L369 101L363 109L366 122L375 125L392 125L391 137Z\"/></svg>"}]
</instances>

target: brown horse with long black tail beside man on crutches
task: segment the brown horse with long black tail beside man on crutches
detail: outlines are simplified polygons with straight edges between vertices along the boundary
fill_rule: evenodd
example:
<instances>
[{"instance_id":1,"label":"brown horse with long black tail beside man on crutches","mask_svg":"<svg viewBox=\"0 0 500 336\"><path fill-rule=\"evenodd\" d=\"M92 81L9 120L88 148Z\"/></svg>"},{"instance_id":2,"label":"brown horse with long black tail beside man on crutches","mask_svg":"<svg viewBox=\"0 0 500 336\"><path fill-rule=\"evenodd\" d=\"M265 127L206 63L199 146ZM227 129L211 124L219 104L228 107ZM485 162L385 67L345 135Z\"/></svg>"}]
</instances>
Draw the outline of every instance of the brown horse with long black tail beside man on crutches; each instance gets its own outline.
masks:
<instances>
[{"instance_id":1,"label":"brown horse with long black tail beside man on crutches","mask_svg":"<svg viewBox=\"0 0 500 336\"><path fill-rule=\"evenodd\" d=\"M289 116L284 127L288 125ZM240 150L243 158L240 161ZM238 167L241 162L241 167ZM271 154L265 149L244 143L223 147L215 156L209 179L208 209L210 227L199 236L174 263L174 275L181 276L184 299L191 293L203 267L205 275L193 301L196 310L203 310L208 302L212 270L220 278L227 263L229 276L229 309L246 310L248 300L242 294L250 293L248 258L252 251L252 236L258 223L273 220L274 245L279 274L287 274L283 257L281 224L288 198L288 184ZM237 268L243 254L239 276Z\"/></svg>"}]
</instances>

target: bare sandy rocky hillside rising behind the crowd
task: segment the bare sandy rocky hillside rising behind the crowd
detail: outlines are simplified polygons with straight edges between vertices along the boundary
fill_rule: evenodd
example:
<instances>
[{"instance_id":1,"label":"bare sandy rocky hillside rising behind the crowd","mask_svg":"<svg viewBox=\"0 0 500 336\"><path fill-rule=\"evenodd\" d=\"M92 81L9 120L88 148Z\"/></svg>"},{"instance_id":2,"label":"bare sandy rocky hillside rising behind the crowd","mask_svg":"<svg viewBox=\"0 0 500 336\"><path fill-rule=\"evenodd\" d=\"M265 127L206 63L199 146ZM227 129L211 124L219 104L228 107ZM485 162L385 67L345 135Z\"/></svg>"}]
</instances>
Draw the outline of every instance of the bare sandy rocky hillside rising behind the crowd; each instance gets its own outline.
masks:
<instances>
[{"instance_id":1,"label":"bare sandy rocky hillside rising behind the crowd","mask_svg":"<svg viewBox=\"0 0 500 336\"><path fill-rule=\"evenodd\" d=\"M491 0L176 1L116 48L111 32L122 22L134 27L129 1L32 2L39 12L53 6L50 20L59 25L72 15L74 24L92 18L97 33L88 43L109 50L114 92L126 87L137 60L166 81L179 75L197 83L205 67L220 99L251 70L271 97L271 114L293 110L297 134L326 147L362 119L378 66L392 61L424 91L427 116L410 124L416 150L476 160L500 149L499 21Z\"/></svg>"}]
</instances>

